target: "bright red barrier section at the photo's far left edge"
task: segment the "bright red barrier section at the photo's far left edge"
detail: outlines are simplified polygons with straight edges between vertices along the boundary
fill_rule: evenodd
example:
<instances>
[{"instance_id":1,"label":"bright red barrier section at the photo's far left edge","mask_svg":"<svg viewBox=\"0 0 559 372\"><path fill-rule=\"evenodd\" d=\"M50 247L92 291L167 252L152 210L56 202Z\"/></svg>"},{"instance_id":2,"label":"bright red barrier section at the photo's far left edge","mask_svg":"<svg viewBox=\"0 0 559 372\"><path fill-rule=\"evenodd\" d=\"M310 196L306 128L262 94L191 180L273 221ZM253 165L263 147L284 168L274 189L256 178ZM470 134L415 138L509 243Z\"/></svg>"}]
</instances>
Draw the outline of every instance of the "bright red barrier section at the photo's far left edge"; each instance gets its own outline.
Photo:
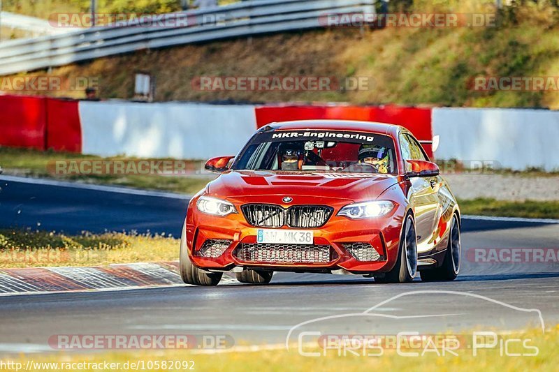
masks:
<instances>
[{"instance_id":1,"label":"bright red barrier section at the photo's far left edge","mask_svg":"<svg viewBox=\"0 0 559 372\"><path fill-rule=\"evenodd\" d=\"M0 145L45 149L46 98L0 96Z\"/></svg>"}]
</instances>

